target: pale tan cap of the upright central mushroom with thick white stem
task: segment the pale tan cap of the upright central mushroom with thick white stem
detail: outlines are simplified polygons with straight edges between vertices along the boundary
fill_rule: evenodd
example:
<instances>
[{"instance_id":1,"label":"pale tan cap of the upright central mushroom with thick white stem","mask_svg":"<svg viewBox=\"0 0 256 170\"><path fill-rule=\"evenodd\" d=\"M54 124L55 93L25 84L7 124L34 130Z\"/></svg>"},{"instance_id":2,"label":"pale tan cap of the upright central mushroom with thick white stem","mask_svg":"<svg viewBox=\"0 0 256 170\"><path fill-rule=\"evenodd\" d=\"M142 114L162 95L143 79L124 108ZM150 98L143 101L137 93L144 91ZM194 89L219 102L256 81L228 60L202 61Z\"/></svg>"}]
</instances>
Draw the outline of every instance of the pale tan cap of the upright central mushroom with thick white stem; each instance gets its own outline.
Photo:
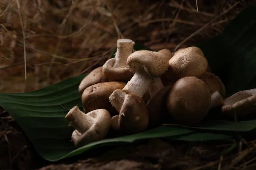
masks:
<instances>
[{"instance_id":1,"label":"pale tan cap of the upright central mushroom with thick white stem","mask_svg":"<svg viewBox=\"0 0 256 170\"><path fill-rule=\"evenodd\" d=\"M164 54L140 50L132 53L127 59L127 66L130 71L145 71L151 77L160 77L169 67L169 57Z\"/></svg>"}]
</instances>

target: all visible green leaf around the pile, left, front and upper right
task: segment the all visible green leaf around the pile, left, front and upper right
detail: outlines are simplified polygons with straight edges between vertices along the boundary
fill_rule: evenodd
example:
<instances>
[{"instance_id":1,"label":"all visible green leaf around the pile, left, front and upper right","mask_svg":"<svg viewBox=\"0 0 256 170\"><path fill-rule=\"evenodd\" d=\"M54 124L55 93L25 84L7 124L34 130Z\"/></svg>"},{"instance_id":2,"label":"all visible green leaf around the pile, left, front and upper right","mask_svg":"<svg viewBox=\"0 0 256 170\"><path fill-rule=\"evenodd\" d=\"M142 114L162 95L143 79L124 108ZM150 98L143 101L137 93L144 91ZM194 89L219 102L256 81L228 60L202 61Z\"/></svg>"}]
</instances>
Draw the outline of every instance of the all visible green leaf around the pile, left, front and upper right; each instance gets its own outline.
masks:
<instances>
[{"instance_id":1,"label":"all visible green leaf around the pile, left, front and upper right","mask_svg":"<svg viewBox=\"0 0 256 170\"><path fill-rule=\"evenodd\" d=\"M256 88L255 28L256 7L248 7L218 37L198 45L204 51L213 73L223 80L228 95L248 87ZM135 50L142 48L144 46L136 46ZM94 147L123 144L139 139L172 136L172 139L177 140L208 141L232 137L227 135L226 131L240 129L244 132L255 128L255 120L250 123L239 122L236 125L215 121L211 125L196 127L201 128L200 130L195 127L190 130L186 127L162 126L140 134L93 142L75 149L70 141L73 128L67 126L68 122L64 117L67 110L75 105L81 109L78 86L84 76L70 78L33 92L0 94L0 105L14 117L38 153L49 161L77 155Z\"/></svg>"}]
</instances>

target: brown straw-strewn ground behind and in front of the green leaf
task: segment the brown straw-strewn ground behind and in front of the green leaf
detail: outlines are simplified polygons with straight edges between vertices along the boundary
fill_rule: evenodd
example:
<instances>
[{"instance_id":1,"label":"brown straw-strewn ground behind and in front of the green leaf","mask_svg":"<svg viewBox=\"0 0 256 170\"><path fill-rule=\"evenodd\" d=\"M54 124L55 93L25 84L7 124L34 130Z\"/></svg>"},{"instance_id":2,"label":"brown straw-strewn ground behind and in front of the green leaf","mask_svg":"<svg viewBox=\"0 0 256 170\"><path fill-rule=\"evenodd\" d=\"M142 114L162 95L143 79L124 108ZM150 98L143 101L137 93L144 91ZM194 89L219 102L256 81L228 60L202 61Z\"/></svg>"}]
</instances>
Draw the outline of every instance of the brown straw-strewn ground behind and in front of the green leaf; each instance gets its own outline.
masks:
<instances>
[{"instance_id":1,"label":"brown straw-strewn ground behind and in front of the green leaf","mask_svg":"<svg viewBox=\"0 0 256 170\"><path fill-rule=\"evenodd\" d=\"M0 92L32 91L89 72L110 57L118 38L156 51L208 40L255 2L198 0L197 12L196 0L0 0ZM200 28L204 29L181 43ZM0 109L0 170L240 170L247 163L247 169L254 170L255 142L240 143L242 147L222 161L220 152L229 145L154 139L43 167L51 163L38 156L15 120Z\"/></svg>"}]
</instances>

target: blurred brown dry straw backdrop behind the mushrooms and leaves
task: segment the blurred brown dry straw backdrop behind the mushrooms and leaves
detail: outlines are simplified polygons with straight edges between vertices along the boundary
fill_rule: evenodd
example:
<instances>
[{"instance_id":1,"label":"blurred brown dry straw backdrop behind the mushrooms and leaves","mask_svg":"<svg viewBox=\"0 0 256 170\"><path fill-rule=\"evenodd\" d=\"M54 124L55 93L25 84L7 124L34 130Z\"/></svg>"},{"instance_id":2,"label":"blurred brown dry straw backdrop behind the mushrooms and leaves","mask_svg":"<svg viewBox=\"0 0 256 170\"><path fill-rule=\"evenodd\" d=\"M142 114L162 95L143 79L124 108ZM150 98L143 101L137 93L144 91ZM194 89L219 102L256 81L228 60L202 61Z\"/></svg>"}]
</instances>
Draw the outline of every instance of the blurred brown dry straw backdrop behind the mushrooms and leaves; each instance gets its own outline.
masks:
<instances>
[{"instance_id":1,"label":"blurred brown dry straw backdrop behind the mushrooms and leaves","mask_svg":"<svg viewBox=\"0 0 256 170\"><path fill-rule=\"evenodd\" d=\"M155 51L203 42L252 4L256 0L0 0L0 92L33 91L89 73L105 63L119 38Z\"/></svg>"}]
</instances>

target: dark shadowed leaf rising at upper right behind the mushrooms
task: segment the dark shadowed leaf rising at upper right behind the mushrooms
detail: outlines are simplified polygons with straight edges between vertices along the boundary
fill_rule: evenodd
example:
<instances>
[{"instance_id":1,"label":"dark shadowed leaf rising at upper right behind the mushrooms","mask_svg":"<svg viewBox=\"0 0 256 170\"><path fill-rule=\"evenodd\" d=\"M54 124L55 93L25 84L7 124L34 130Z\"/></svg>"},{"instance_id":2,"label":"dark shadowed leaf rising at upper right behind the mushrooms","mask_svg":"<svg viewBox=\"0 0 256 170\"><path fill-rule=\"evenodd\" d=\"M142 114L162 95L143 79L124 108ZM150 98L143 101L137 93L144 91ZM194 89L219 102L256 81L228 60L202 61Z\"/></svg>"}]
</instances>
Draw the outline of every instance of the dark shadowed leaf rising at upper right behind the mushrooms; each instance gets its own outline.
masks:
<instances>
[{"instance_id":1,"label":"dark shadowed leaf rising at upper right behind the mushrooms","mask_svg":"<svg viewBox=\"0 0 256 170\"><path fill-rule=\"evenodd\" d=\"M256 88L255 16L256 6L249 6L221 34L197 45L226 86L227 96Z\"/></svg>"}]
</instances>

